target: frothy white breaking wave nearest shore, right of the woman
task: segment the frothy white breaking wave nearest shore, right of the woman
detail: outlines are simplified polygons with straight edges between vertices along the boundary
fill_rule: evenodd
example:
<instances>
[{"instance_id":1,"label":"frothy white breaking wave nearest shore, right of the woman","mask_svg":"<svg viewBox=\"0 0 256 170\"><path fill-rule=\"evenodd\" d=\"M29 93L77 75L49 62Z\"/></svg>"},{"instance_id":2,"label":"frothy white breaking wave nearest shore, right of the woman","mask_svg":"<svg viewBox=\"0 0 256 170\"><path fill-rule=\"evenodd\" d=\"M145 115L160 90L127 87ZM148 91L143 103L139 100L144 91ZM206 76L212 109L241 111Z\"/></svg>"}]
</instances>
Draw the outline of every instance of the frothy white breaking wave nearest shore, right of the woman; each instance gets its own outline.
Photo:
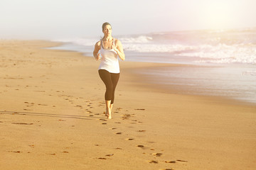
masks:
<instances>
[{"instance_id":1,"label":"frothy white breaking wave nearest shore, right of the woman","mask_svg":"<svg viewBox=\"0 0 256 170\"><path fill-rule=\"evenodd\" d=\"M198 57L196 62L256 64L256 45L159 45L126 44L124 50L131 52L170 53L183 57ZM209 60L213 59L213 60Z\"/></svg>"}]
</instances>

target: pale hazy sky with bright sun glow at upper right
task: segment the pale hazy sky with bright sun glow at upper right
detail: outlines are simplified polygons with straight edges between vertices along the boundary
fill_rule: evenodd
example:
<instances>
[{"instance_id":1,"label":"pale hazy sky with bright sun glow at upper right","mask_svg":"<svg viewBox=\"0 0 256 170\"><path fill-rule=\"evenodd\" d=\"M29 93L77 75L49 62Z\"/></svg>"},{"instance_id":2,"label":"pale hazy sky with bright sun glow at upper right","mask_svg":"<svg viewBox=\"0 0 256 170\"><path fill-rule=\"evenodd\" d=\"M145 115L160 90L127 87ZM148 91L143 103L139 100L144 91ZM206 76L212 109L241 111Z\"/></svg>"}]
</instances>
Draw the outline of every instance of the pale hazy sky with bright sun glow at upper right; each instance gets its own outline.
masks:
<instances>
[{"instance_id":1,"label":"pale hazy sky with bright sun glow at upper right","mask_svg":"<svg viewBox=\"0 0 256 170\"><path fill-rule=\"evenodd\" d=\"M256 27L256 0L0 0L1 38L78 38Z\"/></svg>"}]
</instances>

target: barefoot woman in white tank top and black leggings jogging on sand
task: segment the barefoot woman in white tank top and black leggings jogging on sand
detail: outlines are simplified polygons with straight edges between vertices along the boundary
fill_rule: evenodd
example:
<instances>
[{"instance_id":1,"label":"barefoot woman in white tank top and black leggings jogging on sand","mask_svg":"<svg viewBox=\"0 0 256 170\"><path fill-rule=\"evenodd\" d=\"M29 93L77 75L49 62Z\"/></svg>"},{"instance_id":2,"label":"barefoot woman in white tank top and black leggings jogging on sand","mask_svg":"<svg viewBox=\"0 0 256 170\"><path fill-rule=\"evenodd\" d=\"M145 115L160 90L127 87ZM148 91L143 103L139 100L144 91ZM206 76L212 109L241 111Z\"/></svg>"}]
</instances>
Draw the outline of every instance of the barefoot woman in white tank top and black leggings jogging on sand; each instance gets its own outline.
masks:
<instances>
[{"instance_id":1,"label":"barefoot woman in white tank top and black leggings jogging on sand","mask_svg":"<svg viewBox=\"0 0 256 170\"><path fill-rule=\"evenodd\" d=\"M106 86L105 115L107 115L108 119L111 119L114 103L114 90L117 86L120 74L118 57L121 60L125 60L125 55L121 42L112 37L112 26L110 23L103 23L102 32L104 33L104 37L102 40L96 42L93 56L97 61L101 59L98 72L100 74L100 79L102 79Z\"/></svg>"}]
</instances>

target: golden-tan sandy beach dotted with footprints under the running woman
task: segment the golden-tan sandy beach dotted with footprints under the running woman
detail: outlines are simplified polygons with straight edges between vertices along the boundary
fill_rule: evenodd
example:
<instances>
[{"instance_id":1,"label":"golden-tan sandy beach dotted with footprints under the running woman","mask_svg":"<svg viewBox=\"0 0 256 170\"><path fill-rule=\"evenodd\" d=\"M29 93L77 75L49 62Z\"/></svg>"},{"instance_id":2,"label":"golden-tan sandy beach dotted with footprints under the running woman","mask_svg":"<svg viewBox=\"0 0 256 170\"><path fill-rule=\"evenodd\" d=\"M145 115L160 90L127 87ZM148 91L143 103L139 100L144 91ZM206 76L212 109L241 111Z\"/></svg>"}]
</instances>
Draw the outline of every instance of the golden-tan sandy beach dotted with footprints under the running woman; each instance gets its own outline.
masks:
<instances>
[{"instance_id":1,"label":"golden-tan sandy beach dotted with footprints under the running woman","mask_svg":"<svg viewBox=\"0 0 256 170\"><path fill-rule=\"evenodd\" d=\"M135 72L166 64L120 62L107 120L100 63L55 45L0 41L0 169L256 169L256 106L167 93Z\"/></svg>"}]
</instances>

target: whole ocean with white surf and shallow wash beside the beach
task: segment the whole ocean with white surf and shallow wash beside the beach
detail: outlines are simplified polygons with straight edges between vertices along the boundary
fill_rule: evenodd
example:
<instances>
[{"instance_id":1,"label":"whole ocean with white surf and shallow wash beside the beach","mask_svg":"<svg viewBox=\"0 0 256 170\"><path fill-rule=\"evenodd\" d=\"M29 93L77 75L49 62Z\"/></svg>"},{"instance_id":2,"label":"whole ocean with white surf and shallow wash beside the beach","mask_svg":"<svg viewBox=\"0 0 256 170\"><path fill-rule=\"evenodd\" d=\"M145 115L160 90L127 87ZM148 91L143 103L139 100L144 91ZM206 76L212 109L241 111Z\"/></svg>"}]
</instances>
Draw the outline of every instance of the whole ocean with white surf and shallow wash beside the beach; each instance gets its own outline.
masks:
<instances>
[{"instance_id":1,"label":"whole ocean with white surf and shallow wash beside the beach","mask_svg":"<svg viewBox=\"0 0 256 170\"><path fill-rule=\"evenodd\" d=\"M140 35L113 35L124 47L126 60L188 64L140 72L152 83L183 94L223 96L256 103L256 28L186 30ZM96 38L63 38L56 50L73 50L92 57ZM157 80L156 80L157 79ZM175 79L175 81L174 81Z\"/></svg>"}]
</instances>

